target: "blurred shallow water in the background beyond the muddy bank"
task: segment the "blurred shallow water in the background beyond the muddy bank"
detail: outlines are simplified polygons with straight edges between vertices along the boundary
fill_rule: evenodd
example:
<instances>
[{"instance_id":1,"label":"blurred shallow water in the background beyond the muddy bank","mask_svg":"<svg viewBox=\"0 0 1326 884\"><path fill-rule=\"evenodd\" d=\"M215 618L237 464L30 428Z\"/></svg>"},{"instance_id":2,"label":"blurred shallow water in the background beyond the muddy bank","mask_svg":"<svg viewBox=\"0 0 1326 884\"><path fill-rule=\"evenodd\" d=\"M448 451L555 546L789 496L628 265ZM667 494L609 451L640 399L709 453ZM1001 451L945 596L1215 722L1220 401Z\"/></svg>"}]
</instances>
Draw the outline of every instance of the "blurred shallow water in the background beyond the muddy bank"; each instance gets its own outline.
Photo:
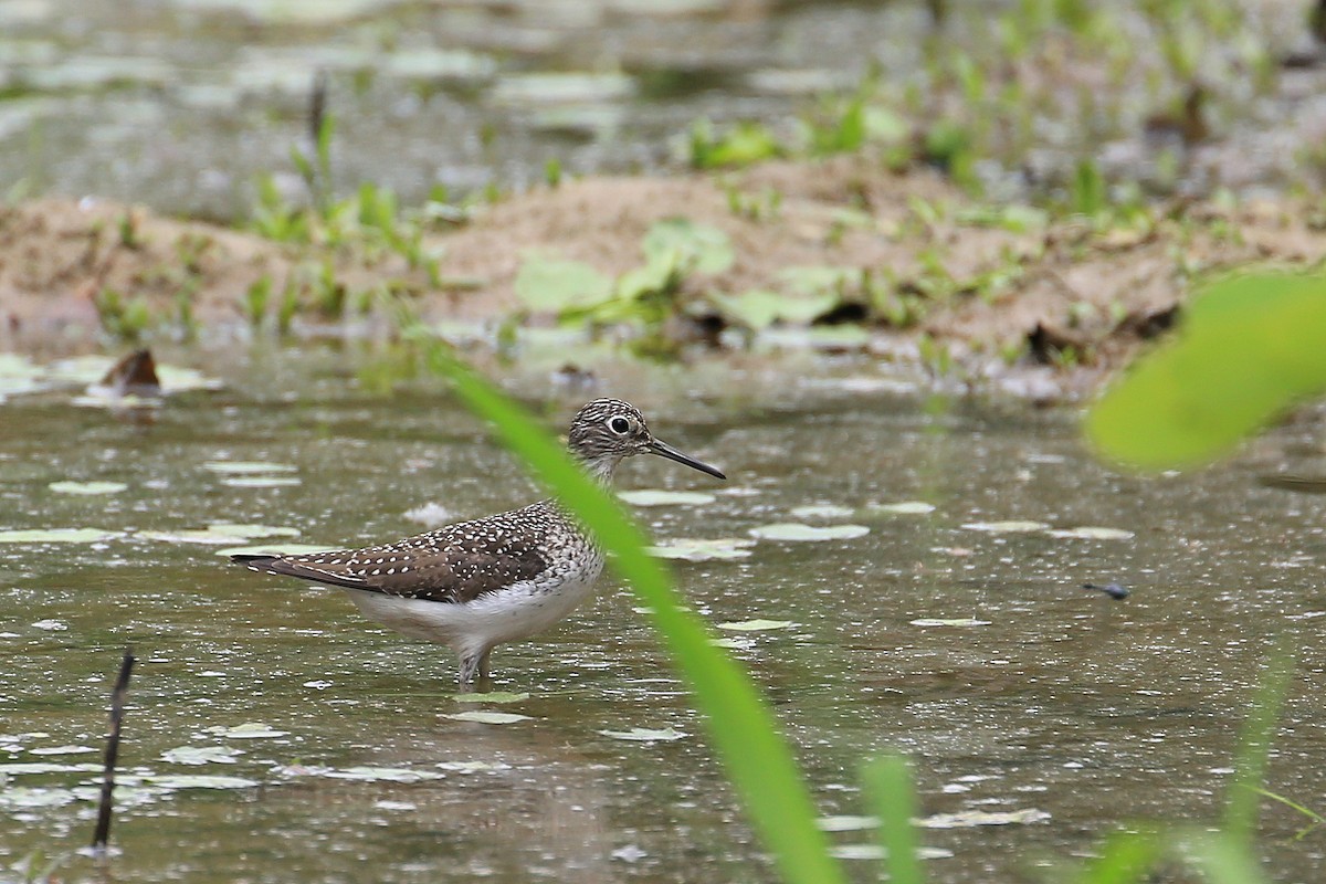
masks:
<instances>
[{"instance_id":1,"label":"blurred shallow water in the background beyond the muddy bank","mask_svg":"<svg viewBox=\"0 0 1326 884\"><path fill-rule=\"evenodd\" d=\"M273 174L286 199L305 200L290 150L312 152L320 72L339 193L373 182L419 205L439 184L451 196L520 191L548 163L570 175L675 170L700 118L762 121L788 138L818 95L855 87L871 68L898 90L930 93L930 5L11 0L0 4L0 196L90 195L235 220ZM939 45L983 57L1008 4L951 5ZM1118 5L1127 32L1146 34L1139 70L1164 80L1155 29L1135 4ZM1302 4L1240 5L1257 34L1249 46L1278 57L1313 45ZM1200 52L1217 138L1192 156L1144 137L1144 121L1168 111L1187 80L1159 91L1151 74L1111 86L1116 110L1106 94L1075 110L1079 86L1066 83L1049 102L1066 110L1037 118L1025 156L981 163L983 180L1001 199L1036 182L1053 188L1095 155L1110 175L1166 191L1317 186L1303 146L1326 127L1326 68L1268 74L1276 83L1261 94L1252 62L1227 64L1241 46L1229 38Z\"/></svg>"}]
</instances>

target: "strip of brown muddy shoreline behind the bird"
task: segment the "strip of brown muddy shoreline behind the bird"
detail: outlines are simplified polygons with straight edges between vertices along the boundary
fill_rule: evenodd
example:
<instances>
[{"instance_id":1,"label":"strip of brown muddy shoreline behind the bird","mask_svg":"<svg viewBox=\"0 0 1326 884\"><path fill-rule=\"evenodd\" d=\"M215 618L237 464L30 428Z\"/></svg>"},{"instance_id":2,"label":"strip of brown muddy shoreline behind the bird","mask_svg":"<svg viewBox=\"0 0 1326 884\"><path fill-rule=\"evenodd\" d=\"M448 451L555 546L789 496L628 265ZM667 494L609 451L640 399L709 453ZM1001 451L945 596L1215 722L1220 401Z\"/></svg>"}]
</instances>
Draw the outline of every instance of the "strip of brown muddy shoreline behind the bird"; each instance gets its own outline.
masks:
<instances>
[{"instance_id":1,"label":"strip of brown muddy shoreline behind the bird","mask_svg":"<svg viewBox=\"0 0 1326 884\"><path fill-rule=\"evenodd\" d=\"M768 193L778 193L776 211L733 209L735 200ZM403 288L428 322L548 325L556 317L530 314L513 290L525 256L554 254L615 276L639 264L640 237L652 223L686 217L723 229L736 257L720 274L686 280L683 300L705 289L776 289L788 268L887 274L895 292L924 302L924 315L906 327L850 311L829 319L861 322L902 353L927 337L959 360L1049 363L1086 378L1123 364L1164 331L1203 278L1252 266L1306 268L1326 256L1326 231L1309 205L1288 197L1158 204L1144 217L1109 225L992 223L991 211L937 174L894 174L862 155L724 175L585 178L484 205L453 229L428 231L424 245L440 256L438 285L395 253L296 247L91 197L42 199L0 208L0 305L9 349L109 345L95 306L106 290L142 296L160 313L147 343L168 334L164 317L183 302L206 339L247 325L245 293L264 277L280 285L317 266L349 292ZM943 298L926 294L926 277L936 273L951 282ZM979 288L991 278L996 286ZM696 327L707 319L703 307L680 313ZM374 325L371 309L342 326L362 331L365 319ZM309 317L296 323L328 325ZM1059 358L1065 351L1069 359Z\"/></svg>"}]
</instances>

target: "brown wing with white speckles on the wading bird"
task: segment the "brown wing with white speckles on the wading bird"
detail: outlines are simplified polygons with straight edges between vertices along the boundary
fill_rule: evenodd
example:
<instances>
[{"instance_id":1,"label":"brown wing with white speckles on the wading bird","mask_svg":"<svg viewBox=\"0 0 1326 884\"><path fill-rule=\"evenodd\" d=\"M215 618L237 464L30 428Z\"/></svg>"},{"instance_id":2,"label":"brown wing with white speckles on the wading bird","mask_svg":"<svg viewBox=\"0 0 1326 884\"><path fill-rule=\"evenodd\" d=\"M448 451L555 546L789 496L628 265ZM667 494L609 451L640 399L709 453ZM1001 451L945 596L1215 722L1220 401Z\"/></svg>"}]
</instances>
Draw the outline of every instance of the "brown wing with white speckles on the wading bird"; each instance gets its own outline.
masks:
<instances>
[{"instance_id":1,"label":"brown wing with white speckles on the wading bird","mask_svg":"<svg viewBox=\"0 0 1326 884\"><path fill-rule=\"evenodd\" d=\"M464 603L548 570L545 504L456 522L385 546L309 555L235 555L255 571L410 599Z\"/></svg>"}]
</instances>

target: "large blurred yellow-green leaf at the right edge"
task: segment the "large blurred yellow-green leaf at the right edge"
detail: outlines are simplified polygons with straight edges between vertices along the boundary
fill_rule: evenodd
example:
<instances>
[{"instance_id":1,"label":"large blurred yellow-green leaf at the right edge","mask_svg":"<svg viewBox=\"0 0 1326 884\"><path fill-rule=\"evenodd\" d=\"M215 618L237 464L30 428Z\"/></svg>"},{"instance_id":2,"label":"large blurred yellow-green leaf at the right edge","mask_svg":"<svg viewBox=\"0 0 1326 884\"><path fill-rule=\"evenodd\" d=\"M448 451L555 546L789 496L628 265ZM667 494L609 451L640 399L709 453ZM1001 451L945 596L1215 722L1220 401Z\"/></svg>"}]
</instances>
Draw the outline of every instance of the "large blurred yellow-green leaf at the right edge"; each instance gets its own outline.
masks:
<instances>
[{"instance_id":1,"label":"large blurred yellow-green leaf at the right edge","mask_svg":"<svg viewBox=\"0 0 1326 884\"><path fill-rule=\"evenodd\" d=\"M1179 335L1091 408L1102 455L1143 469L1229 452L1294 403L1326 391L1326 281L1260 274L1209 286Z\"/></svg>"}]
</instances>

